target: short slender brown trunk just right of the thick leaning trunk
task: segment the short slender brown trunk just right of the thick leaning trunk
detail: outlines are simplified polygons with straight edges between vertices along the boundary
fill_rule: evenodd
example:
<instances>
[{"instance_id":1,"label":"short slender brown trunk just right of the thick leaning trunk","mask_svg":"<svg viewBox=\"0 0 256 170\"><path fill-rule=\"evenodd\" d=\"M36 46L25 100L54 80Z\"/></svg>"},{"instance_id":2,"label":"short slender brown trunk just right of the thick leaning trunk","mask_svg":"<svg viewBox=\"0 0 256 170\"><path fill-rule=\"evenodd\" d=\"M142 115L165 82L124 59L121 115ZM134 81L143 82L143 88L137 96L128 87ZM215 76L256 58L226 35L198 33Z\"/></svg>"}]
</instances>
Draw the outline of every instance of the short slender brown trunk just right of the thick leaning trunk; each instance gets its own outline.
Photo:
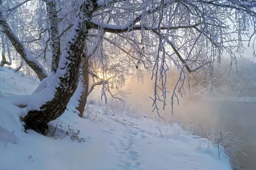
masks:
<instances>
[{"instance_id":1,"label":"short slender brown trunk just right of the thick leaning trunk","mask_svg":"<svg viewBox=\"0 0 256 170\"><path fill-rule=\"evenodd\" d=\"M84 56L81 62L81 86L83 91L81 91L80 99L78 100L79 105L76 108L80 112L79 116L83 117L84 108L88 98L89 89L89 57Z\"/></svg>"}]
</instances>

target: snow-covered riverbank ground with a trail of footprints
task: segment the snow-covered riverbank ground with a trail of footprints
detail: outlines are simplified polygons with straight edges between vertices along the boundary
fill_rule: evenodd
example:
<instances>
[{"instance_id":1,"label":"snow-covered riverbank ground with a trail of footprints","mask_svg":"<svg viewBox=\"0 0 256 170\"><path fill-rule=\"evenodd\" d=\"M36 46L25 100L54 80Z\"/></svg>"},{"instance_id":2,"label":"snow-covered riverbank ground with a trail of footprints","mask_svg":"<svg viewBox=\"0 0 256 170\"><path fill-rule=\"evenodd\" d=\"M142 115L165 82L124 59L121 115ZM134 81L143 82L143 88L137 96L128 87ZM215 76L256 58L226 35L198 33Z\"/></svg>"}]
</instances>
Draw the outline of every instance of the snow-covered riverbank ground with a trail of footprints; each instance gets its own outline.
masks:
<instances>
[{"instance_id":1,"label":"snow-covered riverbank ground with a trail of footprints","mask_svg":"<svg viewBox=\"0 0 256 170\"><path fill-rule=\"evenodd\" d=\"M88 105L84 118L66 111L50 123L58 125L53 137L25 133L20 108L4 97L27 95L37 84L0 71L0 169L231 169L227 157L219 158L207 139L188 135L177 123L118 116L104 112L102 105Z\"/></svg>"}]
</instances>

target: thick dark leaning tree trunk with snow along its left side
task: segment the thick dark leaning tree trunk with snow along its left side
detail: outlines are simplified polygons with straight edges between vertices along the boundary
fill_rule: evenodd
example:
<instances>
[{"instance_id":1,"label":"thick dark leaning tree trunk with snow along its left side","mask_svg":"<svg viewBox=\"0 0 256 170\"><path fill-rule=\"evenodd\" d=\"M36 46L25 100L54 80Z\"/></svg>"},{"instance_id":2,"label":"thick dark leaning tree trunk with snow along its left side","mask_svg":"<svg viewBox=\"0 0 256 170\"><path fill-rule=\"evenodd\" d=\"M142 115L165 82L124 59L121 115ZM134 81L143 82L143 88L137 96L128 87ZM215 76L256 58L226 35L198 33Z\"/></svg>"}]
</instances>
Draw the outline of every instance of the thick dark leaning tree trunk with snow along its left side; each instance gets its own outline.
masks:
<instances>
[{"instance_id":1,"label":"thick dark leaning tree trunk with snow along its left side","mask_svg":"<svg viewBox=\"0 0 256 170\"><path fill-rule=\"evenodd\" d=\"M22 118L26 123L25 128L31 128L38 133L47 134L47 123L56 120L65 111L67 104L76 91L79 77L79 64L81 54L84 48L84 41L88 33L86 24L92 16L94 7L97 6L97 1L84 2L76 17L76 23L72 27L70 33L70 41L67 43L65 52L60 59L60 65L56 72L56 78L53 82L58 82L55 85L54 98L51 101L40 107L40 111L29 111Z\"/></svg>"}]
</instances>

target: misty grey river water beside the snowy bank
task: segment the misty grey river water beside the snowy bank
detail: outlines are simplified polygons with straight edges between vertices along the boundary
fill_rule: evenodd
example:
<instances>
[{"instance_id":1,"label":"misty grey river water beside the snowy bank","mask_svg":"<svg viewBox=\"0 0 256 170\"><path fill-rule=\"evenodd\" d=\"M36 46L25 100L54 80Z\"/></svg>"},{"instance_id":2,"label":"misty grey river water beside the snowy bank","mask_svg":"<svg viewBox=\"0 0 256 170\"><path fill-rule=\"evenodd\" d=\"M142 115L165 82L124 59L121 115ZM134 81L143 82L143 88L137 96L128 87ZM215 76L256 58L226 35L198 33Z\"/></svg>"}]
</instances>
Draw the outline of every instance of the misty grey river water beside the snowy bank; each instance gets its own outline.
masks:
<instances>
[{"instance_id":1,"label":"misty grey river water beside the snowy bank","mask_svg":"<svg viewBox=\"0 0 256 170\"><path fill-rule=\"evenodd\" d=\"M245 170L256 169L256 103L190 100L186 106L181 104L179 107L175 114L179 114L177 118L185 125L195 121L204 130L221 128L223 132L232 132L244 141L241 148L246 150L247 156L238 153L237 159Z\"/></svg>"}]
</instances>

